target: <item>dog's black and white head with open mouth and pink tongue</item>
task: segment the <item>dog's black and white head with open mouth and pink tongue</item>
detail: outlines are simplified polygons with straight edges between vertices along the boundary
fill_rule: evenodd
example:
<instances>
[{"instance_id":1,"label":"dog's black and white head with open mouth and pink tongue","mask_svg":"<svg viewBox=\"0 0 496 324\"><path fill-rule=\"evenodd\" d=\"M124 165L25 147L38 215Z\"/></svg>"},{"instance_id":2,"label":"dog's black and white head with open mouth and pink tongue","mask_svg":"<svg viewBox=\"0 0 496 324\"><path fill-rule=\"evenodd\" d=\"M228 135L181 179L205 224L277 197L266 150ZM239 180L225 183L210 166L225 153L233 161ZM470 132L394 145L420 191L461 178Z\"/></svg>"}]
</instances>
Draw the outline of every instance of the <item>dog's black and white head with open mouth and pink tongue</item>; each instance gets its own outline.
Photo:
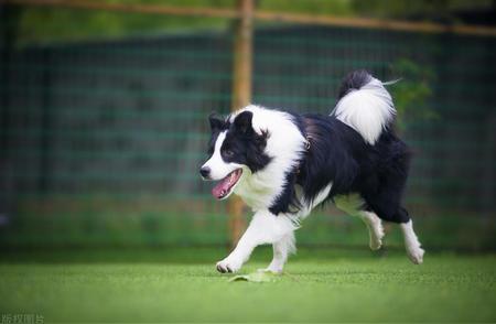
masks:
<instances>
[{"instance_id":1,"label":"dog's black and white head with open mouth and pink tongue","mask_svg":"<svg viewBox=\"0 0 496 324\"><path fill-rule=\"evenodd\" d=\"M218 181L212 194L217 199L224 199L244 179L270 162L263 152L269 133L254 129L254 112L248 110L226 120L215 115L208 119L212 129L209 159L200 173L204 180Z\"/></svg>"}]
</instances>

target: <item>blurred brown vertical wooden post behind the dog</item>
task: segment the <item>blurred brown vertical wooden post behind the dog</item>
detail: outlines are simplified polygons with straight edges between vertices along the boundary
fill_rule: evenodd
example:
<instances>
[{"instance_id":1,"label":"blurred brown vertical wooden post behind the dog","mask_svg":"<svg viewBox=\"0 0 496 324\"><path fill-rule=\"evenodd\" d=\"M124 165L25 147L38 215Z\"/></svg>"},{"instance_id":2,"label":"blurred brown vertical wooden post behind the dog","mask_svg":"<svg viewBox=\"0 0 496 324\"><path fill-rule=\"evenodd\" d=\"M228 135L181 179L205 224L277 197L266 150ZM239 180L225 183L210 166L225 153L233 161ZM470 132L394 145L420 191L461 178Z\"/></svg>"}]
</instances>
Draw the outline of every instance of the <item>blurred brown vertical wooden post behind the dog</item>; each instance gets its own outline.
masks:
<instances>
[{"instance_id":1,"label":"blurred brown vertical wooden post behind the dog","mask_svg":"<svg viewBox=\"0 0 496 324\"><path fill-rule=\"evenodd\" d=\"M235 25L231 111L251 101L254 0L238 0L238 10L240 18ZM231 246L237 244L246 227L242 208L239 197L230 198L228 213Z\"/></svg>"}]
</instances>

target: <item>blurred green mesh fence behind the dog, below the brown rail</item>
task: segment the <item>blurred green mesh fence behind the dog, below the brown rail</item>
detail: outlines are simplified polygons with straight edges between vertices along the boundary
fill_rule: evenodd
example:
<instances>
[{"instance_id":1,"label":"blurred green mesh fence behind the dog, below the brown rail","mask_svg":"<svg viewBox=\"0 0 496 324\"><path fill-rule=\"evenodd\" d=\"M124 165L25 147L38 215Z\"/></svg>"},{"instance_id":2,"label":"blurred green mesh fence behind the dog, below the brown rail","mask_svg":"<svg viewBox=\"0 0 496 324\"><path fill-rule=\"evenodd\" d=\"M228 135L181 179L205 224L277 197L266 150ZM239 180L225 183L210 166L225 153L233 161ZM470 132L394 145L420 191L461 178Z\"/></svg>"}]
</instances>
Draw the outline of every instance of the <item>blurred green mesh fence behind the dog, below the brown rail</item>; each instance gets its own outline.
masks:
<instances>
[{"instance_id":1,"label":"blurred green mesh fence behind the dog, below the brown rail","mask_svg":"<svg viewBox=\"0 0 496 324\"><path fill-rule=\"evenodd\" d=\"M226 204L197 169L208 114L229 110L231 41L219 32L3 46L0 242L226 244ZM406 205L421 240L494 249L495 50L490 37L260 29L254 102L328 114L352 69L403 77L390 90L414 153ZM366 245L357 219L314 214L300 244Z\"/></svg>"}]
</instances>

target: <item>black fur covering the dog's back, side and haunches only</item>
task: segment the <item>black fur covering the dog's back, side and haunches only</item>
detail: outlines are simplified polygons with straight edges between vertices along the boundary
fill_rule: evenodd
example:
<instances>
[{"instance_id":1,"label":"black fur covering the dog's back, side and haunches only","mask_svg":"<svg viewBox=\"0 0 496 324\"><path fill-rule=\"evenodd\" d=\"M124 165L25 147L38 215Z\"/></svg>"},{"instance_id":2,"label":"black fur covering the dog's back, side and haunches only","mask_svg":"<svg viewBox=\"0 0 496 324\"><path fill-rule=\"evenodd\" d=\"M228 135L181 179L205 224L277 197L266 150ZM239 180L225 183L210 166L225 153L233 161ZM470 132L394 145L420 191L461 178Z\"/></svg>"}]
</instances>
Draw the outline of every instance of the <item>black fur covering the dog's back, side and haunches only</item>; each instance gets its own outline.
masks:
<instances>
[{"instance_id":1,"label":"black fur covering the dog's back, side and haunches only","mask_svg":"<svg viewBox=\"0 0 496 324\"><path fill-rule=\"evenodd\" d=\"M351 127L333 116L293 115L310 141L296 172L288 174L288 184L303 188L306 203L332 183L325 201L336 195L359 193L366 206L380 218L406 223L410 218L401 207L408 177L410 152L391 130L385 130L370 145ZM284 188L271 212L294 213L294 188ZM276 213L277 212L277 213Z\"/></svg>"}]
</instances>

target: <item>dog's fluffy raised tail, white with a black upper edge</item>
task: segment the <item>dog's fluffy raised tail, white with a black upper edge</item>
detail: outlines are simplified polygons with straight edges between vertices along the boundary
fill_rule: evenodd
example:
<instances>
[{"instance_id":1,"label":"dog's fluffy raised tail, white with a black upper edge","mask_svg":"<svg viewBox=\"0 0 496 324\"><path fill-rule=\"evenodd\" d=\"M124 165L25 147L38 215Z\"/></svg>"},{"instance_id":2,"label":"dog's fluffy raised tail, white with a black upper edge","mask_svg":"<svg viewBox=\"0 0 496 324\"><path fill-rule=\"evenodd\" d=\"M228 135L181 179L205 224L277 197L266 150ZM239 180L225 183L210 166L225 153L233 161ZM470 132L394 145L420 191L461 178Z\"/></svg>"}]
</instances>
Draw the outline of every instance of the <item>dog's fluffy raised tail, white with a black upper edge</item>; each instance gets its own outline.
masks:
<instances>
[{"instance_id":1,"label":"dog's fluffy raised tail, white with a black upper edge","mask_svg":"<svg viewBox=\"0 0 496 324\"><path fill-rule=\"evenodd\" d=\"M343 80L338 101L331 112L370 144L378 140L396 115L385 84L364 69L352 72Z\"/></svg>"}]
</instances>

